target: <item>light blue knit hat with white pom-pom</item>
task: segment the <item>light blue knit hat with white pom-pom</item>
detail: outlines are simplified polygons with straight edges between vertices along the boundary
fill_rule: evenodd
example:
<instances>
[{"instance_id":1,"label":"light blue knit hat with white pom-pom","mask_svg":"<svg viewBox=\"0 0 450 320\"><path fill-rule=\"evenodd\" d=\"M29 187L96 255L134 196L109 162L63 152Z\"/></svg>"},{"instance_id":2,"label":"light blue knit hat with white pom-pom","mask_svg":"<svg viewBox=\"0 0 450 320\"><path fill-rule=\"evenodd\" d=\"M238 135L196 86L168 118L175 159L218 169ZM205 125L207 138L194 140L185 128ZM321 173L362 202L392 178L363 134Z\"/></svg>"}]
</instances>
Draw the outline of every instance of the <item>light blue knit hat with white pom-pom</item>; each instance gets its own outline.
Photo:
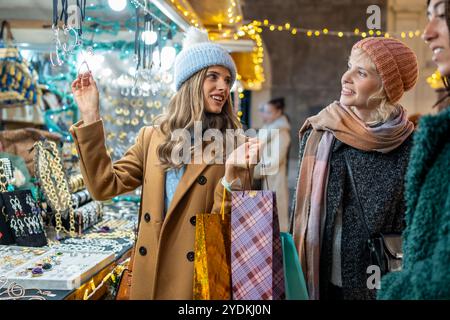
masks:
<instances>
[{"instance_id":1,"label":"light blue knit hat with white pom-pom","mask_svg":"<svg viewBox=\"0 0 450 320\"><path fill-rule=\"evenodd\" d=\"M231 85L236 80L236 65L233 58L221 45L209 41L207 33L197 28L189 28L183 41L183 50L175 59L175 87L183 83L198 71L211 67L223 66L230 71Z\"/></svg>"}]
</instances>

